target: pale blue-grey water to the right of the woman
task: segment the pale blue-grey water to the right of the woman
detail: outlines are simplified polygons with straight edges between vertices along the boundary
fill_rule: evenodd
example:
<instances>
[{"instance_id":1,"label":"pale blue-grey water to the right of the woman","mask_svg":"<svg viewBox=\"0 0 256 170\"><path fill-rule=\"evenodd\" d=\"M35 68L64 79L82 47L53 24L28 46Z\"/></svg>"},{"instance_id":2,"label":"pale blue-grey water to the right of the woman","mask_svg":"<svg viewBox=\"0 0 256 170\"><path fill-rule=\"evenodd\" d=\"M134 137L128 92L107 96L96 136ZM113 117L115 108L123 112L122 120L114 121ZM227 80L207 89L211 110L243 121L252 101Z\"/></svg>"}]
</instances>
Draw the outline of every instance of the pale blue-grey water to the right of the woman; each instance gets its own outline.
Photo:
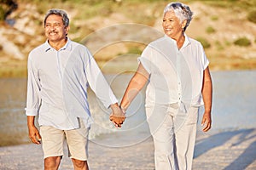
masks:
<instances>
[{"instance_id":1,"label":"pale blue-grey water to the right of the woman","mask_svg":"<svg viewBox=\"0 0 256 170\"><path fill-rule=\"evenodd\" d=\"M256 127L256 71L218 71L213 79L213 128Z\"/></svg>"}]
</instances>

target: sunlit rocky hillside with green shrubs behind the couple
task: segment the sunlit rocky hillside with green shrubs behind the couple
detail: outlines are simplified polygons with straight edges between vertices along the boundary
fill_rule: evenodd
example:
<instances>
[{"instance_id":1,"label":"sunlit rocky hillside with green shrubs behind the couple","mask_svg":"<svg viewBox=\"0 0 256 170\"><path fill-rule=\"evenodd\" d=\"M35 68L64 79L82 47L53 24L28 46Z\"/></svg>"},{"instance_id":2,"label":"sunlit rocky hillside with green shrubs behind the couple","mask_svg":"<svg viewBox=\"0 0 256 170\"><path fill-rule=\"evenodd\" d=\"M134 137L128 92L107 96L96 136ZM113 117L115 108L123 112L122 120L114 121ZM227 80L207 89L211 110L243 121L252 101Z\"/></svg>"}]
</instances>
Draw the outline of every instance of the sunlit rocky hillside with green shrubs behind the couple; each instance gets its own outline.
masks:
<instances>
[{"instance_id":1,"label":"sunlit rocky hillside with green shrubs behind the couple","mask_svg":"<svg viewBox=\"0 0 256 170\"><path fill-rule=\"evenodd\" d=\"M71 19L69 37L94 50L97 62L102 65L123 54L140 54L147 42L160 37L162 10L168 3L164 0L143 0L142 3L136 0L28 2L17 1L18 8L1 23L0 77L26 76L27 54L45 41L43 20L49 8L67 11ZM219 1L227 4L213 3L218 1L181 2L189 4L194 11L194 20L187 34L203 43L212 70L256 68L256 24L247 19L247 8L237 6L245 1ZM125 25L127 23L129 26ZM89 39L97 33L103 34ZM142 35L139 42L137 37ZM102 44L100 48L96 48L99 44ZM131 58L135 59L134 56Z\"/></svg>"}]
</instances>

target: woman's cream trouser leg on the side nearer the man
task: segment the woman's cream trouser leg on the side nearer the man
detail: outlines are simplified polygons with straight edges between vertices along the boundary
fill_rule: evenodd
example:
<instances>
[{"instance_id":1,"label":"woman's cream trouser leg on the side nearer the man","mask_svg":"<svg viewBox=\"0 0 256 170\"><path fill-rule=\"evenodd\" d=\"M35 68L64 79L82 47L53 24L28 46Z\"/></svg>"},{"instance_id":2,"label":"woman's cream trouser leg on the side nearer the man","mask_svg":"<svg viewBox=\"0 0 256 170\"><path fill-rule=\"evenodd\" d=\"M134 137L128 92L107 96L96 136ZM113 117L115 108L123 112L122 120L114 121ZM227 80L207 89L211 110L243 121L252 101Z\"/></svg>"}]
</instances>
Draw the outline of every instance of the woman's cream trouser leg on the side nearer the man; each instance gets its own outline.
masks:
<instances>
[{"instance_id":1,"label":"woman's cream trouser leg on the side nearer the man","mask_svg":"<svg viewBox=\"0 0 256 170\"><path fill-rule=\"evenodd\" d=\"M174 130L168 105L146 107L148 126L154 139L155 170L176 170Z\"/></svg>"}]
</instances>

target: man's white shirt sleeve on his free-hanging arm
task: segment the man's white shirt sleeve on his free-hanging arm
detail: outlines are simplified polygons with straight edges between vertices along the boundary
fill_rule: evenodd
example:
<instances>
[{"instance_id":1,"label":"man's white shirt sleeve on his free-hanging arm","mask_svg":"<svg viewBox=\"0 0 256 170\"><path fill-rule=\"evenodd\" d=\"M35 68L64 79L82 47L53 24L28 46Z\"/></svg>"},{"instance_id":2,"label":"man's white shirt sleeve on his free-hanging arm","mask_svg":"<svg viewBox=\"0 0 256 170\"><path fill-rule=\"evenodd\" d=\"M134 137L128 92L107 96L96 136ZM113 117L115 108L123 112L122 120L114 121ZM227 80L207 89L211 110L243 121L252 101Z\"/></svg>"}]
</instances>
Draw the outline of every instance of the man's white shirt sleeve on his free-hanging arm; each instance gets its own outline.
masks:
<instances>
[{"instance_id":1,"label":"man's white shirt sleeve on his free-hanging arm","mask_svg":"<svg viewBox=\"0 0 256 170\"><path fill-rule=\"evenodd\" d=\"M32 56L29 55L27 61L27 92L26 92L26 116L37 116L41 103L39 95L38 76L32 65Z\"/></svg>"}]
</instances>

